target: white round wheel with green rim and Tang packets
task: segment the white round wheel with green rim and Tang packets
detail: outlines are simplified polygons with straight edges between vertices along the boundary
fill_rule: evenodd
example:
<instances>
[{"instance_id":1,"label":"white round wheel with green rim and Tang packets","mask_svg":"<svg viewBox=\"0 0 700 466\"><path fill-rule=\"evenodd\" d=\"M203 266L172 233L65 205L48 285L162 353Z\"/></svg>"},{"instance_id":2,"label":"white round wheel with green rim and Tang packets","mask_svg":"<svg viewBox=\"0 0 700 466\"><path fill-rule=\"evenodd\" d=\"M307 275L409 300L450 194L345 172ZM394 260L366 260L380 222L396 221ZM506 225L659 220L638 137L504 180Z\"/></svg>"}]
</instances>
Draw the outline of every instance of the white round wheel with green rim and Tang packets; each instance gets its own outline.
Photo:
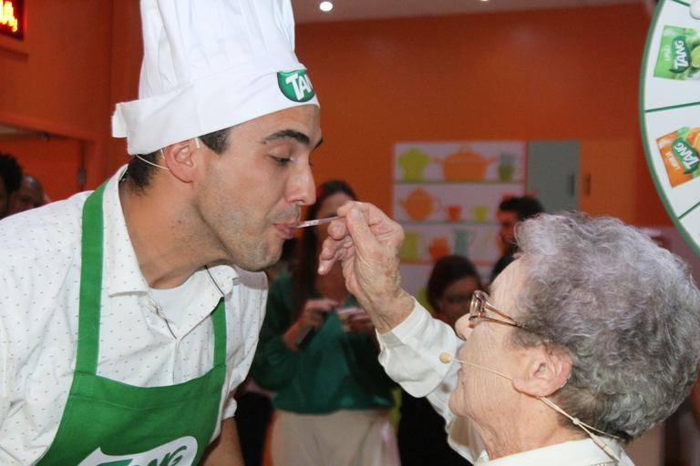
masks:
<instances>
[{"instance_id":1,"label":"white round wheel with green rim and Tang packets","mask_svg":"<svg viewBox=\"0 0 700 466\"><path fill-rule=\"evenodd\" d=\"M664 207L700 255L700 19L689 0L660 0L639 93L646 161Z\"/></svg>"}]
</instances>

